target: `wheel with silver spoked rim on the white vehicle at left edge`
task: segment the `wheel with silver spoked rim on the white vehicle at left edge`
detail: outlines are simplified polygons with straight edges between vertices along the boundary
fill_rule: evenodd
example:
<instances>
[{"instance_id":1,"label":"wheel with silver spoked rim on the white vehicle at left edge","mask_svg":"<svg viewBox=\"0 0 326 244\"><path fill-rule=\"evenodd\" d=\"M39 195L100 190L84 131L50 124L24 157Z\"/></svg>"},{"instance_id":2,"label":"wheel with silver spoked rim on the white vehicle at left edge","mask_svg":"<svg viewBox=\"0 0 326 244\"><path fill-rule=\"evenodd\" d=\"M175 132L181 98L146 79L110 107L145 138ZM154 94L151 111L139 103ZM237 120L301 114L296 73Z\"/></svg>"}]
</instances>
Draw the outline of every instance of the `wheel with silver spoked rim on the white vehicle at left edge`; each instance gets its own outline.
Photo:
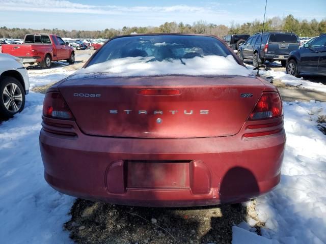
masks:
<instances>
[{"instance_id":1,"label":"wheel with silver spoked rim on the white vehicle at left edge","mask_svg":"<svg viewBox=\"0 0 326 244\"><path fill-rule=\"evenodd\" d=\"M6 90L5 90L6 89ZM0 116L7 119L20 113L25 106L25 91L20 82L11 76L0 80Z\"/></svg>"}]
</instances>

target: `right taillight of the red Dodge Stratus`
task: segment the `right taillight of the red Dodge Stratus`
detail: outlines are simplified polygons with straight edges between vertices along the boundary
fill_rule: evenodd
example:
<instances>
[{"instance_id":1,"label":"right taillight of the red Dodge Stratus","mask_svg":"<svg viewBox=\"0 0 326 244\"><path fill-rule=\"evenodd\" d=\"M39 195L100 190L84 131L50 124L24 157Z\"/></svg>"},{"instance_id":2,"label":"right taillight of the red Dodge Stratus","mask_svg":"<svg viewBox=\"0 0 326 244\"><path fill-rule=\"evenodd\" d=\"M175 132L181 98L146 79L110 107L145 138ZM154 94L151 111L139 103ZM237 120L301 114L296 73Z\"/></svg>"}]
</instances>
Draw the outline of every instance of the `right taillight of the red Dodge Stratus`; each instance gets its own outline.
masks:
<instances>
[{"instance_id":1,"label":"right taillight of the red Dodge Stratus","mask_svg":"<svg viewBox=\"0 0 326 244\"><path fill-rule=\"evenodd\" d=\"M275 118L283 114L282 101L278 93L263 93L249 120Z\"/></svg>"}]
</instances>

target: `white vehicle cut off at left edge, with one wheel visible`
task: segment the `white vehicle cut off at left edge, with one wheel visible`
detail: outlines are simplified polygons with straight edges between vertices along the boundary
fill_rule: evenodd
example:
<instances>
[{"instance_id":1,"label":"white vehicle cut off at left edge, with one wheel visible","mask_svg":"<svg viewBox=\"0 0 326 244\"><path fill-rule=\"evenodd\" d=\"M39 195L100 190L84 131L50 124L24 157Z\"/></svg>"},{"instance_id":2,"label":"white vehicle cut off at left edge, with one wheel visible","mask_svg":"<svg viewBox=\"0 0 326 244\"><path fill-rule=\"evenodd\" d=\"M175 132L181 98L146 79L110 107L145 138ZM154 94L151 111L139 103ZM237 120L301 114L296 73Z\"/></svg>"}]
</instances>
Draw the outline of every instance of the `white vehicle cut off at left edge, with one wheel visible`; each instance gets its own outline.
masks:
<instances>
[{"instance_id":1,"label":"white vehicle cut off at left edge, with one wheel visible","mask_svg":"<svg viewBox=\"0 0 326 244\"><path fill-rule=\"evenodd\" d=\"M21 59L0 53L0 117L10 118L23 110L30 81Z\"/></svg>"}]
</instances>

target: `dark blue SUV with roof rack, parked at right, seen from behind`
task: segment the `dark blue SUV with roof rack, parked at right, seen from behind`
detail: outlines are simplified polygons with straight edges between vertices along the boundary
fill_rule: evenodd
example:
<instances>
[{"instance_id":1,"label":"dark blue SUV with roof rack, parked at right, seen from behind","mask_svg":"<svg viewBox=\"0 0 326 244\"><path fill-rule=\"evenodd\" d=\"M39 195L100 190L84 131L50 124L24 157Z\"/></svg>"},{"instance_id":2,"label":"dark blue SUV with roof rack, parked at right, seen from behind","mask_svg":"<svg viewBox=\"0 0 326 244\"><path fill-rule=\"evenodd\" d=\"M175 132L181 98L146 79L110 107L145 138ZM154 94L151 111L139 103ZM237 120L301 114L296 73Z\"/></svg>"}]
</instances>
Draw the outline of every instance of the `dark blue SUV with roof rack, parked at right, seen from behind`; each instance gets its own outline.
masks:
<instances>
[{"instance_id":1,"label":"dark blue SUV with roof rack, parked at right, seen from behind","mask_svg":"<svg viewBox=\"0 0 326 244\"><path fill-rule=\"evenodd\" d=\"M252 59L253 66L263 64L265 60L274 62L280 60L285 67L286 60L291 51L299 48L299 39L292 32L274 31L255 33L238 50L238 57Z\"/></svg>"}]
</instances>

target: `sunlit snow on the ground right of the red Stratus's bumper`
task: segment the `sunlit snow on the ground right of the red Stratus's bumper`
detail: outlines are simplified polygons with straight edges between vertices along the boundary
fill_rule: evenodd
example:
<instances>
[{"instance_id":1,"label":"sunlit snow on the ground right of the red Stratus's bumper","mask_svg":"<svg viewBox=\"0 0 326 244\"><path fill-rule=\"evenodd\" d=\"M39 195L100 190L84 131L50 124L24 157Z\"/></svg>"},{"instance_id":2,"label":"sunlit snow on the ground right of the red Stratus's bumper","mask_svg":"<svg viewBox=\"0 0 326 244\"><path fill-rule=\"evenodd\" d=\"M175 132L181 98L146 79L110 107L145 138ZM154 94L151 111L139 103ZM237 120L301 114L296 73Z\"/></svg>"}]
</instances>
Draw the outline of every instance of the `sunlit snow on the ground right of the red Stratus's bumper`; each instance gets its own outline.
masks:
<instances>
[{"instance_id":1,"label":"sunlit snow on the ground right of the red Stratus's bumper","mask_svg":"<svg viewBox=\"0 0 326 244\"><path fill-rule=\"evenodd\" d=\"M284 114L281 184L257 199L258 218L266 222L261 232L280 243L326 243L326 135L316 123L318 115L326 114L326 103L285 102ZM245 238L248 232L234 235Z\"/></svg>"}]
</instances>

